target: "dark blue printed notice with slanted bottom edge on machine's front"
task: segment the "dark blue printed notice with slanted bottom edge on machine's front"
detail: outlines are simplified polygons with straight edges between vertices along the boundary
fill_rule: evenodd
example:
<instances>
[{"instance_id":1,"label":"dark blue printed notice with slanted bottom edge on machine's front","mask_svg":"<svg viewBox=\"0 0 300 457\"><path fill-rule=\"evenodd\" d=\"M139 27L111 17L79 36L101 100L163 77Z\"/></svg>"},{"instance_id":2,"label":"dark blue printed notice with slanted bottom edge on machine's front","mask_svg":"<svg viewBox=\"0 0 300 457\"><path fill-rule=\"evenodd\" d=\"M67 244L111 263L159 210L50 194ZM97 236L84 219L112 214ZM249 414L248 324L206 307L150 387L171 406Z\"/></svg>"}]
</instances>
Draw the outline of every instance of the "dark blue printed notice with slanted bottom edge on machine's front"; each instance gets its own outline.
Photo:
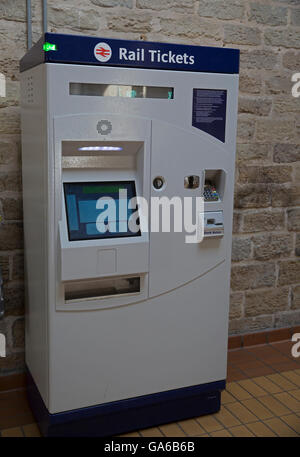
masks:
<instances>
[{"instance_id":1,"label":"dark blue printed notice with slanted bottom edge on machine's front","mask_svg":"<svg viewBox=\"0 0 300 457\"><path fill-rule=\"evenodd\" d=\"M193 89L193 127L225 142L227 91Z\"/></svg>"}]
</instances>

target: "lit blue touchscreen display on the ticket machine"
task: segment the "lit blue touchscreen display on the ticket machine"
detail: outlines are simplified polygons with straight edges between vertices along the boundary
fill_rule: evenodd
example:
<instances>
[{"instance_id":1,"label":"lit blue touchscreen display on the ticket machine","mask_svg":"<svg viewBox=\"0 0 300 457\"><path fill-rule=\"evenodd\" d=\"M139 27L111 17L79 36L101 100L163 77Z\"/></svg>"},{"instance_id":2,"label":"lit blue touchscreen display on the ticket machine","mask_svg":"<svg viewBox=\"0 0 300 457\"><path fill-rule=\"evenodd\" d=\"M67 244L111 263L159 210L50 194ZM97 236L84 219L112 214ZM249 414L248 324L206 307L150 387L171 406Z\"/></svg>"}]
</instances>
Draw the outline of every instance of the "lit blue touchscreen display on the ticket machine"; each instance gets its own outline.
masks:
<instances>
[{"instance_id":1,"label":"lit blue touchscreen display on the ticket machine","mask_svg":"<svg viewBox=\"0 0 300 457\"><path fill-rule=\"evenodd\" d=\"M69 241L140 236L134 181L64 183Z\"/></svg>"}]
</instances>

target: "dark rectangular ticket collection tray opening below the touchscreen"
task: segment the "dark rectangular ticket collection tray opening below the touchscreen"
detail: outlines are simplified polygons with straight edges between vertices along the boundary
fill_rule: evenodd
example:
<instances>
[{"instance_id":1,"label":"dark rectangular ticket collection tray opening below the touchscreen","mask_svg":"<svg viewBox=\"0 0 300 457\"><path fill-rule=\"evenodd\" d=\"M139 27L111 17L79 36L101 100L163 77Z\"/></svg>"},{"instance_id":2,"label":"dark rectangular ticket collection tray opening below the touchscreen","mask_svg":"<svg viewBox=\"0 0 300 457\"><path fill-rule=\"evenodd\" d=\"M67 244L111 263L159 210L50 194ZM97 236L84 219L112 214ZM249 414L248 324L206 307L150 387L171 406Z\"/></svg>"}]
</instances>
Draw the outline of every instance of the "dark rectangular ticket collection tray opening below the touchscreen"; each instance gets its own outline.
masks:
<instances>
[{"instance_id":1,"label":"dark rectangular ticket collection tray opening below the touchscreen","mask_svg":"<svg viewBox=\"0 0 300 457\"><path fill-rule=\"evenodd\" d=\"M68 281L64 287L65 303L136 294L141 290L140 277Z\"/></svg>"}]
</instances>

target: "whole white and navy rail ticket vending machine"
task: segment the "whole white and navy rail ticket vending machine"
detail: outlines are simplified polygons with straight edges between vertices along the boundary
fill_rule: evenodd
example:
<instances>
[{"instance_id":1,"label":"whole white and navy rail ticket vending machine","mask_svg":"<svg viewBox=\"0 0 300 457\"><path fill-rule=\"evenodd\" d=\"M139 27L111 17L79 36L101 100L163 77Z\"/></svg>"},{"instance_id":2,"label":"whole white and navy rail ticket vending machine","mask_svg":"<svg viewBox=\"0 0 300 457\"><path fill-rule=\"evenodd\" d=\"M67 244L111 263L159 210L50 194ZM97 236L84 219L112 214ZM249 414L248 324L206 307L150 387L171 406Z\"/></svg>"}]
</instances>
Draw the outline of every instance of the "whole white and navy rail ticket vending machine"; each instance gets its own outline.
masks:
<instances>
[{"instance_id":1,"label":"whole white and navy rail ticket vending machine","mask_svg":"<svg viewBox=\"0 0 300 457\"><path fill-rule=\"evenodd\" d=\"M234 49L52 33L21 60L26 365L44 435L219 410L238 67ZM153 229L158 197L204 198L201 242Z\"/></svg>"}]
</instances>

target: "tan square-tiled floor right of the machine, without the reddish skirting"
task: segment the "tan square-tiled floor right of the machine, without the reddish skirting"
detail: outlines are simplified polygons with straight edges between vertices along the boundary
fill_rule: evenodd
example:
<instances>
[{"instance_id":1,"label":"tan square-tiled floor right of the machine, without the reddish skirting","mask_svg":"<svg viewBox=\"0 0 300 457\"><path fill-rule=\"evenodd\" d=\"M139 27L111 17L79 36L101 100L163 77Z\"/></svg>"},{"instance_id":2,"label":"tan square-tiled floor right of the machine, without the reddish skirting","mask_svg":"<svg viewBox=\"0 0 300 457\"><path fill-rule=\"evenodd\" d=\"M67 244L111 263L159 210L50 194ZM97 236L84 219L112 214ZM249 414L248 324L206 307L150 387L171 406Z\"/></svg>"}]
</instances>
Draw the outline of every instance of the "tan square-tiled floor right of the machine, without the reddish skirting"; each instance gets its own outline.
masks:
<instances>
[{"instance_id":1,"label":"tan square-tiled floor right of the machine, without the reddish skirting","mask_svg":"<svg viewBox=\"0 0 300 457\"><path fill-rule=\"evenodd\" d=\"M222 393L218 413L130 436L300 436L299 382L300 369L234 381Z\"/></svg>"}]
</instances>

